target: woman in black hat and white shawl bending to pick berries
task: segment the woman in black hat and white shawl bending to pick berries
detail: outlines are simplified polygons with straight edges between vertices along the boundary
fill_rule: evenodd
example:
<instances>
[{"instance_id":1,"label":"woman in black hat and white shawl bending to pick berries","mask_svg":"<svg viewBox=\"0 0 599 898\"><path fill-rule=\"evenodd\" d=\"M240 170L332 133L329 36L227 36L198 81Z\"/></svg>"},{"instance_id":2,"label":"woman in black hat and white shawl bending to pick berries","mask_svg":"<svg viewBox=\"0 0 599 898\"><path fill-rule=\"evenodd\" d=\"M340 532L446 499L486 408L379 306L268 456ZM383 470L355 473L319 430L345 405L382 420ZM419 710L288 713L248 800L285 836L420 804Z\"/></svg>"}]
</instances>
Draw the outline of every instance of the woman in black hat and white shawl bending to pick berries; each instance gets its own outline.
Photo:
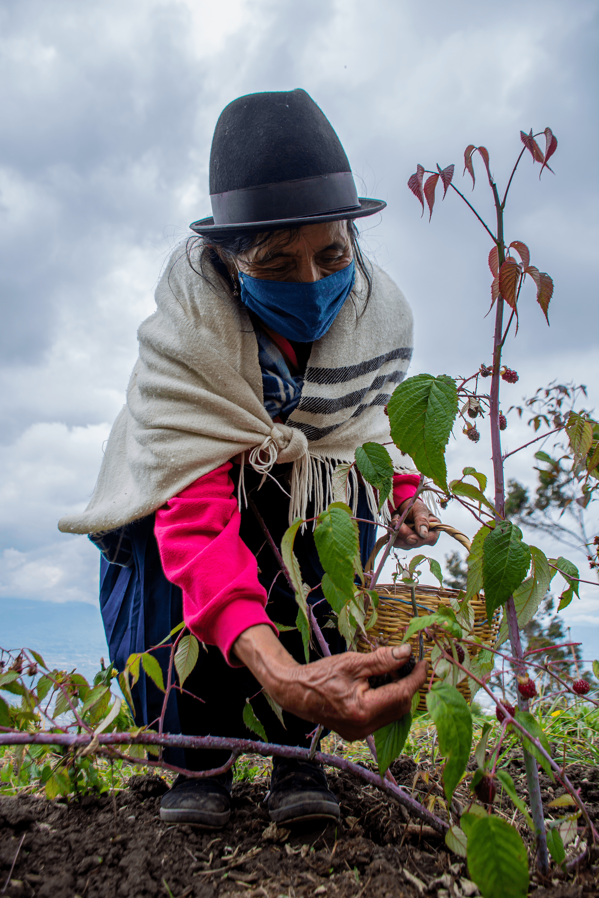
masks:
<instances>
[{"instance_id":1,"label":"woman in black hat and white shawl bending to pick berries","mask_svg":"<svg viewBox=\"0 0 599 898\"><path fill-rule=\"evenodd\" d=\"M90 534L101 550L101 613L119 670L181 621L203 644L185 691L170 695L165 731L247 736L242 710L253 697L271 742L307 747L314 724L363 738L410 709L426 665L370 689L367 678L397 672L410 649L344 653L336 629L324 630L332 655L313 651L305 664L295 597L263 528L280 545L297 515L318 515L330 501L335 469L353 462L358 445L389 442L384 406L410 362L412 320L399 289L363 257L354 224L385 203L357 198L339 138L301 90L226 107L210 198L213 216L190 225L200 236L172 254L157 311L139 329L127 404L92 500L59 527ZM410 459L395 452L393 462L389 515L418 484ZM350 479L348 502L365 563L372 489ZM417 500L409 517L414 529L404 524L396 545L434 543L427 507ZM304 581L319 587L311 526L297 533L295 555ZM320 588L309 601L324 623ZM165 672L168 647L156 656ZM155 726L163 694L143 672L133 700L137 724ZM228 753L165 756L211 770ZM223 826L231 784L230 772L180 775L161 817ZM275 758L268 806L277 823L339 817L313 762Z\"/></svg>"}]
</instances>

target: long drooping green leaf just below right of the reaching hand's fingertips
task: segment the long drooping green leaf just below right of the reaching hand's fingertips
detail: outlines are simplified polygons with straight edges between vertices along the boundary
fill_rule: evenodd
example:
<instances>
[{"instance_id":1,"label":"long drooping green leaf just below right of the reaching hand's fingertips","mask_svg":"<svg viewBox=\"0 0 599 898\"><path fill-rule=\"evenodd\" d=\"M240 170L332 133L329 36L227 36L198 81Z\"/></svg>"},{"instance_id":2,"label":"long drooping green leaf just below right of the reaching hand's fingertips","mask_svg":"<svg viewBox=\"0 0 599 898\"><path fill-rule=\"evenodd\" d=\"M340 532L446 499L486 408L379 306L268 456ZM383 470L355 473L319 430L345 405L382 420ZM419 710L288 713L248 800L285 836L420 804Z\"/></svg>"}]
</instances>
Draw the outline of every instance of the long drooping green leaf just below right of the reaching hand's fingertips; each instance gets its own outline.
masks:
<instances>
[{"instance_id":1,"label":"long drooping green leaf just below right of the reaching hand's fingertips","mask_svg":"<svg viewBox=\"0 0 599 898\"><path fill-rule=\"evenodd\" d=\"M460 692L446 682L436 682L427 692L427 709L435 721L439 750L446 758L443 785L449 802L470 757L471 713Z\"/></svg>"}]
</instances>

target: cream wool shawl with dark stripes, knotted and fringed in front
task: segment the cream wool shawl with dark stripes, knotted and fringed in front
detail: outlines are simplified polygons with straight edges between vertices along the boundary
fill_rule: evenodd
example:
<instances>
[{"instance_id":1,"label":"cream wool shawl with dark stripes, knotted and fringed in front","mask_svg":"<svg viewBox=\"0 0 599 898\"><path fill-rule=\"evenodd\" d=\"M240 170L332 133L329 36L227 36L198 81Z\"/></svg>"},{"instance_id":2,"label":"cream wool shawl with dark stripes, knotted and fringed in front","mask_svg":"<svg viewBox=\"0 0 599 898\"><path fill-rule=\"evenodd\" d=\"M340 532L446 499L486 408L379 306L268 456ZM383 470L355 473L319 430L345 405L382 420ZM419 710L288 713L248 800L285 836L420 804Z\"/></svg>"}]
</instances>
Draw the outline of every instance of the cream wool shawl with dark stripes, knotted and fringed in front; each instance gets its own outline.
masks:
<instances>
[{"instance_id":1,"label":"cream wool shawl with dark stripes, knotted and fringed in front","mask_svg":"<svg viewBox=\"0 0 599 898\"><path fill-rule=\"evenodd\" d=\"M196 269L201 251L200 244ZM336 467L353 462L366 441L389 443L384 406L412 348L410 306L390 277L373 267L372 294L357 315L365 297L357 273L352 295L313 343L302 399L284 425L264 409L247 310L206 258L203 270L207 280L190 267L184 244L172 253L156 288L156 312L138 330L127 404L110 432L92 499L83 513L61 518L59 530L115 530L235 456L262 473L294 462L289 520L305 515L311 497L318 514L339 497ZM396 471L414 470L407 456L388 448ZM355 468L351 477L357 486ZM357 489L353 496L355 503Z\"/></svg>"}]
</instances>

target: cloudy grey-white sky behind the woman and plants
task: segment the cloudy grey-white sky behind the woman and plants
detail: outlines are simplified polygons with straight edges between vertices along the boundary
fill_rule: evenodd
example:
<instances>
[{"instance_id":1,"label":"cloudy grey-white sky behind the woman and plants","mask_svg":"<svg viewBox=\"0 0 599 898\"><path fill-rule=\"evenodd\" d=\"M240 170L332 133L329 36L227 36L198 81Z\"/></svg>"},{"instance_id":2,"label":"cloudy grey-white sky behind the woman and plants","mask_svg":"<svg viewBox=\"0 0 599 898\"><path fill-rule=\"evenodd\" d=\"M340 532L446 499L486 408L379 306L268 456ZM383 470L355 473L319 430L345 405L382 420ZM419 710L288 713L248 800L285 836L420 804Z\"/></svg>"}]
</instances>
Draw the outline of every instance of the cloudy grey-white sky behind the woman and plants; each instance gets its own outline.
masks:
<instances>
[{"instance_id":1,"label":"cloudy grey-white sky behind the woman and plants","mask_svg":"<svg viewBox=\"0 0 599 898\"><path fill-rule=\"evenodd\" d=\"M599 404L597 20L592 0L507 0L500 13L466 0L0 3L0 595L97 601L97 550L58 533L57 519L92 493L137 326L172 247L210 214L212 133L243 93L307 90L361 195L388 202L363 220L364 241L414 309L413 374L489 362L490 244L455 194L437 198L428 224L406 181L417 163L456 163L456 184L491 219L480 164L473 193L462 180L465 145L486 145L505 185L520 129L550 126L555 176L539 180L524 158L507 234L555 280L551 328L529 286L506 346L520 381L505 385L503 405L556 378L588 384ZM504 443L527 433L510 418ZM450 462L453 476L464 464L489 474L489 444L458 434ZM532 463L519 453L507 474L533 485ZM592 632L599 589L583 594L568 621Z\"/></svg>"}]
</instances>

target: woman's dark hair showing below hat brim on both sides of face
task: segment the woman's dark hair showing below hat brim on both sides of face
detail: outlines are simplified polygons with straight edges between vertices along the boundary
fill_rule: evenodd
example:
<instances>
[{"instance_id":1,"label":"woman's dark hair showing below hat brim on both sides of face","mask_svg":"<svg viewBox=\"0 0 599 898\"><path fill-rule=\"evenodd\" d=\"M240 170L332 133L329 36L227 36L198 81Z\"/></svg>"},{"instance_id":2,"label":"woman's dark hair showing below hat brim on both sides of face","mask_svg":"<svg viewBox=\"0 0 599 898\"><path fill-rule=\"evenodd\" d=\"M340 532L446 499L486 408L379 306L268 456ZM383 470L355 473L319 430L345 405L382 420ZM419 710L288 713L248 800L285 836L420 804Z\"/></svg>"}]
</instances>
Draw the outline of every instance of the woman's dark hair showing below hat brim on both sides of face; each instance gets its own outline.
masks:
<instances>
[{"instance_id":1,"label":"woman's dark hair showing below hat brim on both sides of face","mask_svg":"<svg viewBox=\"0 0 599 898\"><path fill-rule=\"evenodd\" d=\"M360 249L358 243L359 232L355 223L352 220L348 220L347 225L349 242L351 243L351 249L354 254L356 268L366 281L366 301L360 312L358 312L357 310L353 294L351 296L352 303L354 304L354 309L356 310L356 317L358 319L361 318L362 315L366 312L366 305L368 304L368 300L370 299L370 295L372 293L372 266ZM258 249L260 248L260 246L265 246L274 233L279 234L283 239L283 246L288 246L288 244L295 239L299 231L299 228L289 228L278 231L263 231L259 233L248 233L247 231L221 231L220 233L210 234L209 237L189 237L189 240L185 247L185 251L187 260L189 262L189 267L193 269L196 274L199 275L199 277L202 277L207 282L207 284L209 284L214 289L215 285L210 281L209 277L207 277L204 270L204 264L208 259L215 266L221 277L223 277L225 280L231 280L233 282L233 277L231 277L231 275L229 274L229 271L228 269L226 269L226 266L223 263L221 257L226 260L233 260L236 256L242 255L243 252ZM191 253L196 249L199 250L199 269L194 266L191 260ZM216 251L217 249L220 255ZM233 286L235 286L234 282Z\"/></svg>"}]
</instances>

